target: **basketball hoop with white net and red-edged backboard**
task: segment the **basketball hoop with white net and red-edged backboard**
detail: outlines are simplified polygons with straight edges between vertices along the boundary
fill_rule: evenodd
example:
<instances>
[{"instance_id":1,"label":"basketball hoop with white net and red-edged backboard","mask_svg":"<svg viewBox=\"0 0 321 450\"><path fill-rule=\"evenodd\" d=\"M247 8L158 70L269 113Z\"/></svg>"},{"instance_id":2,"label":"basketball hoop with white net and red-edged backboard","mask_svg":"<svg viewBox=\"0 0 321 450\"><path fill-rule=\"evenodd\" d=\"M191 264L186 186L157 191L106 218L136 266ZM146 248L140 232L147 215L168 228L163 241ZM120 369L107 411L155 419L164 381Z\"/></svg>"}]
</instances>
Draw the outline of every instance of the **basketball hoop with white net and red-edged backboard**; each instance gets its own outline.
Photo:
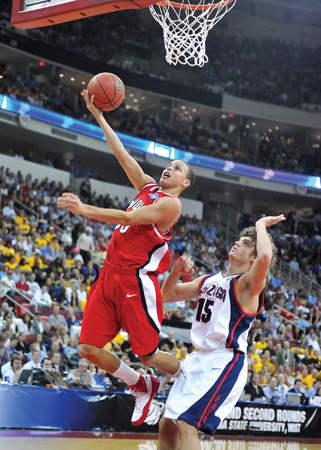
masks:
<instances>
[{"instance_id":1,"label":"basketball hoop with white net and red-edged backboard","mask_svg":"<svg viewBox=\"0 0 321 450\"><path fill-rule=\"evenodd\" d=\"M13 0L11 23L38 28L125 9L149 7L163 28L166 61L202 67L208 32L236 0Z\"/></svg>"}]
</instances>

